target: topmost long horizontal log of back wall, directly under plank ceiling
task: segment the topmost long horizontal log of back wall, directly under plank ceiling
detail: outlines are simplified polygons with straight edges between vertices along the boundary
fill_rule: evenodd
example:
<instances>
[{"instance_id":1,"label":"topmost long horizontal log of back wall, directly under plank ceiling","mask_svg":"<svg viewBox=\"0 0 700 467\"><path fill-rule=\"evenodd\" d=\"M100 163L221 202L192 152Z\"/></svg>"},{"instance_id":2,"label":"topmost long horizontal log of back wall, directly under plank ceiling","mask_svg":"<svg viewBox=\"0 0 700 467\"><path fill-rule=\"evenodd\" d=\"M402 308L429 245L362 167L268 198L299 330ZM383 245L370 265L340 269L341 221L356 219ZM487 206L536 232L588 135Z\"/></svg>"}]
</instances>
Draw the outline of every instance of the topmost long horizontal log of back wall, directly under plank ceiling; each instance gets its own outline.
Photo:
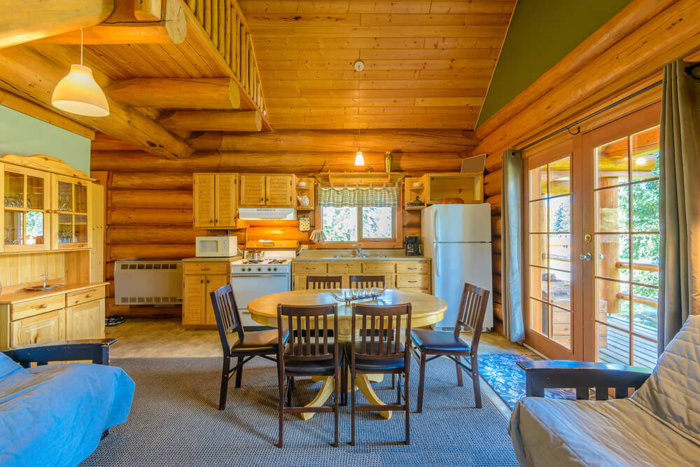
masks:
<instances>
[{"instance_id":1,"label":"topmost long horizontal log of back wall, directly under plank ceiling","mask_svg":"<svg viewBox=\"0 0 700 467\"><path fill-rule=\"evenodd\" d=\"M204 133L188 142L199 151L357 151L356 130L278 130L274 133ZM470 151L479 143L465 130L363 130L363 151L406 153Z\"/></svg>"}]
</instances>

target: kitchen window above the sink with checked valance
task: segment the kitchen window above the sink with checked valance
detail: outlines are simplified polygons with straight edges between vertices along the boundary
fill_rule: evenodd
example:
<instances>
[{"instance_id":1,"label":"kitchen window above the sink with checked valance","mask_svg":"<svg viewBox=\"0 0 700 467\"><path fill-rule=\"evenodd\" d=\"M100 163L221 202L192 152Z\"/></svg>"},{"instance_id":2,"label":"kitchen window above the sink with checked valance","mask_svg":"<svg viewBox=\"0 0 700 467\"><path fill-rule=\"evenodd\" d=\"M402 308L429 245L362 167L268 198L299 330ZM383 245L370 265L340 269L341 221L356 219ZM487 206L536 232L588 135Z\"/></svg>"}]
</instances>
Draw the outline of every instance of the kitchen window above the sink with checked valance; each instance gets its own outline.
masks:
<instances>
[{"instance_id":1,"label":"kitchen window above the sink with checked valance","mask_svg":"<svg viewBox=\"0 0 700 467\"><path fill-rule=\"evenodd\" d=\"M393 184L321 186L316 225L323 231L323 243L332 247L349 246L353 242L400 246L399 197L400 190Z\"/></svg>"}]
</instances>

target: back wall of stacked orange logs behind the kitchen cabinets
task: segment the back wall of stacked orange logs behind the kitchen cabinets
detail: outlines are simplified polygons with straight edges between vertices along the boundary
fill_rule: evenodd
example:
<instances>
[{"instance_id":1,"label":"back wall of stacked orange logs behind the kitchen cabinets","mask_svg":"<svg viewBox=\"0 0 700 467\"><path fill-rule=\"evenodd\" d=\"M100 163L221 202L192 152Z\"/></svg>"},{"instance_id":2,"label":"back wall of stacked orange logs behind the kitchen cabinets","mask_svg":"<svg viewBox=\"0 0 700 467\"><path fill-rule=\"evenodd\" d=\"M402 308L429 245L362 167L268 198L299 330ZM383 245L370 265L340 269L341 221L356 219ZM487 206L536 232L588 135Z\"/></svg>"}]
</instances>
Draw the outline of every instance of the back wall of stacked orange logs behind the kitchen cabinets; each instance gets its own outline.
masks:
<instances>
[{"instance_id":1,"label":"back wall of stacked orange logs behind the kitchen cabinets","mask_svg":"<svg viewBox=\"0 0 700 467\"><path fill-rule=\"evenodd\" d=\"M106 280L109 314L125 316L179 315L179 308L125 307L114 305L114 261L127 258L195 256L195 237L207 230L193 228L192 183L194 172L294 173L309 176L324 165L332 172L355 171L354 151L342 151L350 135L334 132L285 130L272 134L225 135L228 148L244 151L202 151L190 158L166 160L136 151L131 146L98 134L92 151L91 170L106 179ZM350 133L350 132L347 132ZM405 145L400 143L405 138ZM332 144L332 141L336 144ZM383 143L384 141L384 143ZM433 142L431 142L433 141ZM477 141L460 130L372 130L367 135L365 169L384 171L384 152L393 151L392 172L421 175L426 172L459 172L464 151ZM255 148L260 151L255 151ZM300 148L313 148L304 152ZM363 137L363 148L365 138ZM322 151L328 148L328 151ZM405 150L404 150L405 148ZM223 150L221 150L223 151ZM305 214L305 213L304 213ZM314 212L309 213L312 228ZM402 210L403 235L420 235L420 211ZM221 230L210 231L221 235ZM309 232L300 232L297 221L251 221L248 228L232 231L239 244L255 239L293 239L310 244Z\"/></svg>"}]
</instances>

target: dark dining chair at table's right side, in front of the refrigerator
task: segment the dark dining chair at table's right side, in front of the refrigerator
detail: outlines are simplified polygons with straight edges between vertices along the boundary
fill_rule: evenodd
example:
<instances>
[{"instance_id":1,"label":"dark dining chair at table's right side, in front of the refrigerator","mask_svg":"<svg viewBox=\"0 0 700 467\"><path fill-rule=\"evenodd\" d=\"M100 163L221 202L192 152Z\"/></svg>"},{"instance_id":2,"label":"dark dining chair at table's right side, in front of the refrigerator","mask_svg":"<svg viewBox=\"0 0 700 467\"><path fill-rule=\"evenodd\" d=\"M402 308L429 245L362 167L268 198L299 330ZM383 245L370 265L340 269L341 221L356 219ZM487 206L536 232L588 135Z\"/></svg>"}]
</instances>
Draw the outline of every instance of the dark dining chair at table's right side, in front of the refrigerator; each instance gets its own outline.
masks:
<instances>
[{"instance_id":1,"label":"dark dining chair at table's right side, in front of the refrigerator","mask_svg":"<svg viewBox=\"0 0 700 467\"><path fill-rule=\"evenodd\" d=\"M467 370L474 383L474 401L476 408L482 407L481 389L479 389L479 364L477 362L477 351L479 349L479 339L481 337L482 326L484 326L484 316L486 307L489 305L489 291L484 288L464 284L462 289L462 299L459 304L457 321L454 323L454 331L414 329L411 337L416 348L421 354L421 375L418 383L418 412L423 411L423 384L426 379L426 363L440 356L449 357L456 364L457 386L463 386L462 368ZM472 333L472 342L467 344L459 333L463 330ZM430 358L426 358L430 355ZM465 365L462 357L469 358L470 364Z\"/></svg>"}]
</instances>

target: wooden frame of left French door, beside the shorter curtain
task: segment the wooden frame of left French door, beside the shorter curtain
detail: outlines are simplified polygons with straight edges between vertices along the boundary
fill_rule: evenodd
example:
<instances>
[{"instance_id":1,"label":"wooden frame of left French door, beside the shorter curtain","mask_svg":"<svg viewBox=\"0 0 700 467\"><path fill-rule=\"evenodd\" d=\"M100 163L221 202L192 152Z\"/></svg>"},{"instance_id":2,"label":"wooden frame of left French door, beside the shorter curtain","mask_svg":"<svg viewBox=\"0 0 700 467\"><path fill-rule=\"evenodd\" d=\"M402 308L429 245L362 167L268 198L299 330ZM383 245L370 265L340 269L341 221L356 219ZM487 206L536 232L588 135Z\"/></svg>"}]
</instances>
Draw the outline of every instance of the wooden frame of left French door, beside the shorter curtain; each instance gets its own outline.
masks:
<instances>
[{"instance_id":1,"label":"wooden frame of left French door, beside the shorter curtain","mask_svg":"<svg viewBox=\"0 0 700 467\"><path fill-rule=\"evenodd\" d=\"M582 174L581 170L574 170L574 167L580 167L580 158L582 155L580 138L570 138L565 141L558 142L546 147L540 146L540 148L531 149L523 154L524 167L523 167L523 182L522 183L522 207L521 216L523 222L521 223L521 244L522 244L522 271L523 271L523 288L521 302L524 304L523 307L523 319L525 321L525 342L534 349L541 351L549 358L557 359L582 359L584 358L584 315L583 311L583 291L582 291L582 281L578 280L582 277L582 271L580 267L580 262L577 261L580 255L580 244L582 242L577 241L577 237L581 237L582 234L582 209L575 209L582 193ZM570 309L571 309L571 327L570 327L570 338L571 347L567 349L563 345L555 342L554 340L545 337L540 333L535 331L529 331L530 322L530 301L529 301L529 289L530 289L530 170L542 165L546 165L548 162L561 159L568 155L570 157L570 170L571 170L571 185L570 185L570 215L571 215L571 230L570 230L570 248L571 248L571 271L570 271ZM580 203L578 203L580 205Z\"/></svg>"}]
</instances>

